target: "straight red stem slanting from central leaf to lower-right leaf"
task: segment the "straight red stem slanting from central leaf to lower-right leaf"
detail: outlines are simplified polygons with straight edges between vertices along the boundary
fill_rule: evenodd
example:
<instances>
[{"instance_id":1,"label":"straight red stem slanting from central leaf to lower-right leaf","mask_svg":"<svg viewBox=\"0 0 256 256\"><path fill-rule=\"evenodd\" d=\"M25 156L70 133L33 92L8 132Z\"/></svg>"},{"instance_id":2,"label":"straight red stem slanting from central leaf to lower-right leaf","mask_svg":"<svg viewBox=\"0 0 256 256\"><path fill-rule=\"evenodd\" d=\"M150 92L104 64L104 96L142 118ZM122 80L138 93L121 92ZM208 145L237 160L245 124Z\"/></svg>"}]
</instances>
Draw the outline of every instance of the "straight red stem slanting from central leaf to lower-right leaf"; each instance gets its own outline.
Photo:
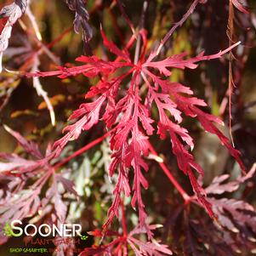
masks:
<instances>
[{"instance_id":1,"label":"straight red stem slanting from central leaf to lower-right leaf","mask_svg":"<svg viewBox=\"0 0 256 256\"><path fill-rule=\"evenodd\" d=\"M159 157L158 154L156 153L156 150L154 149L154 147L151 145L151 143L149 141L148 141L148 147L154 156ZM179 194L184 198L185 202L190 202L191 196L189 196L184 191L184 189L181 187L181 185L179 185L179 182L174 178L173 174L170 173L170 171L168 170L168 168L164 164L164 162L157 161L157 163L162 168L164 174L166 174L168 176L168 179L173 183L173 185L177 189L177 191L179 191Z\"/></svg>"}]
</instances>

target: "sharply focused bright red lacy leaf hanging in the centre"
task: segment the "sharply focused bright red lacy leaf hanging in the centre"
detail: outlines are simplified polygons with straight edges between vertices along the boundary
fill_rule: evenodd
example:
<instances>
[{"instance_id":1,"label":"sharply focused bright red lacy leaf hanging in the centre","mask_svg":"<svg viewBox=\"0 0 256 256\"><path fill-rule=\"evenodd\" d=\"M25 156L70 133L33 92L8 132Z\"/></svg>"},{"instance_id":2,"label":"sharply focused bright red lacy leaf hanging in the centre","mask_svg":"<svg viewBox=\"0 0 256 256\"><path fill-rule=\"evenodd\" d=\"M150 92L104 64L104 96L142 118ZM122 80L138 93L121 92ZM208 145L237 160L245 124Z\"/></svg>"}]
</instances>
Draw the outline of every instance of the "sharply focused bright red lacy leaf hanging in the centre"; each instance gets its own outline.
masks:
<instances>
[{"instance_id":1,"label":"sharply focused bright red lacy leaf hanging in the centre","mask_svg":"<svg viewBox=\"0 0 256 256\"><path fill-rule=\"evenodd\" d=\"M96 56L77 58L84 65L71 68L58 67L59 71L37 72L29 76L59 76L61 78L83 74L85 77L101 76L100 82L90 88L86 98L96 98L93 102L82 104L70 119L77 121L64 129L66 134L54 144L55 156L70 140L77 139L82 130L88 130L97 124L100 119L105 121L106 127L111 128L110 145L112 163L110 175L118 172L116 189L113 191L114 200L108 211L108 219L105 222L105 229L111 224L114 216L117 216L120 205L120 196L130 196L128 170L133 169L133 197L132 206L139 209L139 223L145 225L145 205L142 200L141 186L148 188L148 182L143 174L148 171L145 156L148 154L149 136L154 133L154 122L157 123L157 134L161 139L170 137L172 151L177 158L179 169L191 180L193 191L195 191L198 202L200 202L214 218L210 202L206 193L197 183L196 173L203 175L203 170L196 162L190 149L194 147L190 132L182 127L183 115L196 118L202 128L208 133L215 134L219 140L236 158L243 171L245 168L240 158L240 152L230 145L229 139L222 134L215 124L223 124L218 117L202 111L206 106L203 100L193 96L191 88L179 82L169 82L173 68L195 69L198 62L203 60L219 59L224 54L236 47L236 43L218 54L198 54L196 57L186 58L186 54L177 54L165 60L155 60L156 52L152 52L145 61L139 60L137 65L129 58L127 48L124 50L108 41L102 31L103 43L108 50L116 55L116 60L100 60ZM145 35L144 35L145 37ZM143 43L147 40L144 39ZM146 48L143 45L142 48ZM144 58L144 57L143 57ZM127 89L122 88L124 79L130 77ZM142 84L146 86L147 93L143 93ZM145 97L144 97L145 96ZM145 99L145 100L143 100ZM158 120L152 118L151 114L156 105ZM102 118L100 117L102 113ZM196 173L195 173L196 172Z\"/></svg>"}]
</instances>

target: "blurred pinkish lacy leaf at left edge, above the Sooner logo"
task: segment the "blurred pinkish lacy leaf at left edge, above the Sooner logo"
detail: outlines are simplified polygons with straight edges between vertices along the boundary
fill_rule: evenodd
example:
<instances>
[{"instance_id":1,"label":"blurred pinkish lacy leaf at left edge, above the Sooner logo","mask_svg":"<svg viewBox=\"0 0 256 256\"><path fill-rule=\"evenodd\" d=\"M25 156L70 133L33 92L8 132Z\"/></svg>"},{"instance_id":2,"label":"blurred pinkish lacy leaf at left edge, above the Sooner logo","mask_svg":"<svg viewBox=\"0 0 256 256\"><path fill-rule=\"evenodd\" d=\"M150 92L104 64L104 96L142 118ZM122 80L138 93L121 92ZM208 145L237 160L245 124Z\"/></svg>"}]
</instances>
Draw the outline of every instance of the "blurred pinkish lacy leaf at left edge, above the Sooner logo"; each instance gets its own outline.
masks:
<instances>
[{"instance_id":1,"label":"blurred pinkish lacy leaf at left edge, above the Sooner logo","mask_svg":"<svg viewBox=\"0 0 256 256\"><path fill-rule=\"evenodd\" d=\"M48 146L43 156L37 144L26 140L11 128L4 127L31 156L31 160L16 154L0 154L4 160L0 162L0 224L35 216L40 209L37 219L43 218L51 209L52 216L57 216L54 221L65 222L67 207L58 186L62 184L65 191L75 196L77 192L71 180L61 174L54 174L54 167L50 164L51 146ZM51 185L44 195L43 187L50 184L51 179ZM54 207L49 208L51 203Z\"/></svg>"}]
</instances>

